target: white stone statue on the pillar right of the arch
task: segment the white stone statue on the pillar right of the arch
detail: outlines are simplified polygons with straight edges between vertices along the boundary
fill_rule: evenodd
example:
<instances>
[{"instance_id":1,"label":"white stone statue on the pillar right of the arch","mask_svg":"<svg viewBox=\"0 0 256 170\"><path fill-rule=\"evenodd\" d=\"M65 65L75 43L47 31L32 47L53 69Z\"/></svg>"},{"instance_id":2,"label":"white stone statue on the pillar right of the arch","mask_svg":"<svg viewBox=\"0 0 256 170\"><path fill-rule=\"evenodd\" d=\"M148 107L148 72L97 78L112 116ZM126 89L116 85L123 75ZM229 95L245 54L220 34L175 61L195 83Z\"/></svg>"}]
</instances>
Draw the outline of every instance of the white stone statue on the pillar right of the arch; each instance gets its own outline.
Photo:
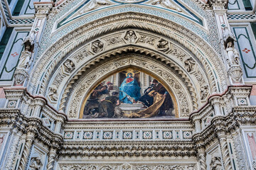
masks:
<instances>
[{"instance_id":1,"label":"white stone statue on the pillar right of the arch","mask_svg":"<svg viewBox=\"0 0 256 170\"><path fill-rule=\"evenodd\" d=\"M228 42L225 50L227 51L227 62L230 67L235 64L240 64L238 50L235 49L233 42Z\"/></svg>"}]
</instances>

